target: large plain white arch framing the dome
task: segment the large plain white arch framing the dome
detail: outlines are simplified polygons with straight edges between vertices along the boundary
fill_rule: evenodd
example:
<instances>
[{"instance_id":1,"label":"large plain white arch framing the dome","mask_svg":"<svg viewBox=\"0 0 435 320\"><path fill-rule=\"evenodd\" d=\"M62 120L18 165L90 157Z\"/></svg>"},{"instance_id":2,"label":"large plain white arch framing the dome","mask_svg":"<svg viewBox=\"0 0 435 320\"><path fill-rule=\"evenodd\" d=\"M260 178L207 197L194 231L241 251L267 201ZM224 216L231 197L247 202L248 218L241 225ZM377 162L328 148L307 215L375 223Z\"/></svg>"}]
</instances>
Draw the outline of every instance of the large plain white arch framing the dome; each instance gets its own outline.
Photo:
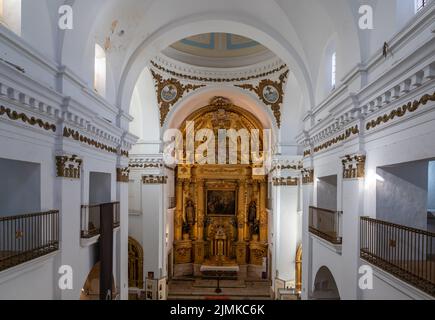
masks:
<instances>
[{"instance_id":1,"label":"large plain white arch framing the dome","mask_svg":"<svg viewBox=\"0 0 435 320\"><path fill-rule=\"evenodd\" d=\"M251 38L278 55L295 73L301 81L300 86L305 97L304 101L311 107L314 103L313 89L309 71L305 67L303 58L285 37L271 30L270 27L252 25L252 18L225 13L210 13L201 16L193 15L177 20L159 28L154 34L145 39L130 57L126 64L118 94L118 105L128 108L131 95L140 72L148 65L151 58L161 50L183 38L199 33L224 32L234 33Z\"/></svg>"}]
</instances>

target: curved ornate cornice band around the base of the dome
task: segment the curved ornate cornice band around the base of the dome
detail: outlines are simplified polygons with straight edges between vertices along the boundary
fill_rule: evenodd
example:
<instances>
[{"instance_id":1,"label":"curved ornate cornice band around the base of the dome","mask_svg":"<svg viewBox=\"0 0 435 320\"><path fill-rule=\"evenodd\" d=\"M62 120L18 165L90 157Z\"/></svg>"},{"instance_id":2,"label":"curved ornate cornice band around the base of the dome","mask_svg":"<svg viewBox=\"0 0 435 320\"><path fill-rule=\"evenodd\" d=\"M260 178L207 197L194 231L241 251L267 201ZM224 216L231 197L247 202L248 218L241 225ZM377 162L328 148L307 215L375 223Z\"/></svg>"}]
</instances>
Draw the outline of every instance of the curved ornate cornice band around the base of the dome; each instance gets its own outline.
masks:
<instances>
[{"instance_id":1,"label":"curved ornate cornice band around the base of the dome","mask_svg":"<svg viewBox=\"0 0 435 320\"><path fill-rule=\"evenodd\" d=\"M217 83L231 83L231 82L245 82L245 81L251 81L251 80L255 80L255 79L259 79L259 78L265 78L268 77L272 74L275 74L277 72L280 72L284 69L287 68L287 65L283 64L281 66L279 66L278 68L275 68L273 70L267 71L267 72L263 72L263 73L259 73L259 74L255 74L255 75L250 75L250 76L245 76L245 77L236 77L236 78L222 78L222 77L216 77L216 78L212 78L212 77L201 77L201 76L195 76L195 75L188 75L188 74L183 74L183 73L179 73L179 72L175 72L172 70L169 70L165 67L162 67L160 65L158 65L156 62L151 61L151 65L162 71L165 72L167 74L172 75L173 77L177 77L180 79L185 79L185 80L191 80L191 81L198 81L198 82L217 82Z\"/></svg>"}]
</instances>

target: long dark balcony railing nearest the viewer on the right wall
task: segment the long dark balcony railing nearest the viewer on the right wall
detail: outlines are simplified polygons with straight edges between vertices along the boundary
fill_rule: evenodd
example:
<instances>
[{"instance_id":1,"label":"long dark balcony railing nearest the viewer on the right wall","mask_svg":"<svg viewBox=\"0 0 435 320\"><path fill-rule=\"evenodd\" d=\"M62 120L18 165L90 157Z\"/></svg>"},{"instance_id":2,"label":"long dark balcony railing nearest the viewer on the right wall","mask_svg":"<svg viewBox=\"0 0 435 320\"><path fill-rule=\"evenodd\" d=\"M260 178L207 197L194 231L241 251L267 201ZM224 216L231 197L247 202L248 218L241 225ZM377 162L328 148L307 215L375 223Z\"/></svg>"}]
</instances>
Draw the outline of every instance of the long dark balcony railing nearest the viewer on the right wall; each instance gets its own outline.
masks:
<instances>
[{"instance_id":1,"label":"long dark balcony railing nearest the viewer on the right wall","mask_svg":"<svg viewBox=\"0 0 435 320\"><path fill-rule=\"evenodd\" d=\"M435 234L361 218L361 258L435 296Z\"/></svg>"}]
</instances>

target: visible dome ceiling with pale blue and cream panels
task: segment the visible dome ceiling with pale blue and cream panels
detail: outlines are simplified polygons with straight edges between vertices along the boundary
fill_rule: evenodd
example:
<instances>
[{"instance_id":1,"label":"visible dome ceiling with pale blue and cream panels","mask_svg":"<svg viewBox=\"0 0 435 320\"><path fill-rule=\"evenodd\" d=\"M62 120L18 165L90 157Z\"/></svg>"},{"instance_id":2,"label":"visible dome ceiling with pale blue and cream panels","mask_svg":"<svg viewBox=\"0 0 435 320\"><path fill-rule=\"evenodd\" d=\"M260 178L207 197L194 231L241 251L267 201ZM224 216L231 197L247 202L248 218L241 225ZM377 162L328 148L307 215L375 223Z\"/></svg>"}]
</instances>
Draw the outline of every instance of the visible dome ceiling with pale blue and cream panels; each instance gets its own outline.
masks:
<instances>
[{"instance_id":1,"label":"visible dome ceiling with pale blue and cream panels","mask_svg":"<svg viewBox=\"0 0 435 320\"><path fill-rule=\"evenodd\" d=\"M243 67L274 57L260 43L230 33L195 35L174 43L163 53L187 64L216 68Z\"/></svg>"}]
</instances>

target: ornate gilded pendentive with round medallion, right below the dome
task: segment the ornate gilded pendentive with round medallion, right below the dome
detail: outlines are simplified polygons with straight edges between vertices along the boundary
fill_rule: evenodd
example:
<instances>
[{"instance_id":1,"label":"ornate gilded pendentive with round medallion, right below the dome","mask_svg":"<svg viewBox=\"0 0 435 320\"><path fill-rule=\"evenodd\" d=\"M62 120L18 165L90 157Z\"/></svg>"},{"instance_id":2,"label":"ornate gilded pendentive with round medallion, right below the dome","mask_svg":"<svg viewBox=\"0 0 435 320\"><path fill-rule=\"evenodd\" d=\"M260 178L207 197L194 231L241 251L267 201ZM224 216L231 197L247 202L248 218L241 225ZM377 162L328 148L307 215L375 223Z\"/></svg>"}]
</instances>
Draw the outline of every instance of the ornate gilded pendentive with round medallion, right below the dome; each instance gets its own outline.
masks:
<instances>
[{"instance_id":1,"label":"ornate gilded pendentive with round medallion, right below the dome","mask_svg":"<svg viewBox=\"0 0 435 320\"><path fill-rule=\"evenodd\" d=\"M279 76L279 81L263 79L256 87L252 84L236 85L236 87L255 92L261 101L271 107L278 128L281 127L281 104L284 101L284 85L288 75L289 70Z\"/></svg>"}]
</instances>

